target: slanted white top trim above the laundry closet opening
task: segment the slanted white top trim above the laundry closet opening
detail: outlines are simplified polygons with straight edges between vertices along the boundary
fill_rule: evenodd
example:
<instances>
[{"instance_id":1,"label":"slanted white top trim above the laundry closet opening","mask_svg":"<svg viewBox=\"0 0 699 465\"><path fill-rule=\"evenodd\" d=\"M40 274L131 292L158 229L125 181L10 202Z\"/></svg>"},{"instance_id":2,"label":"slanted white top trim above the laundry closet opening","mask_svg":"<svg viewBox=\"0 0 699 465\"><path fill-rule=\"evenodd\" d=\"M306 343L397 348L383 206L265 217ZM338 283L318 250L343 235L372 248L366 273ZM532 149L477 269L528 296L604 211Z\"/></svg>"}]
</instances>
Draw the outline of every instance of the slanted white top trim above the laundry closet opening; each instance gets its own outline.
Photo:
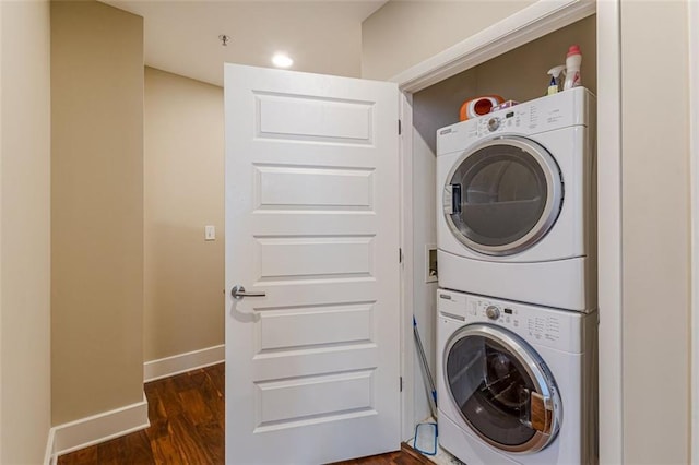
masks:
<instances>
[{"instance_id":1,"label":"slanted white top trim above the laundry closet opening","mask_svg":"<svg viewBox=\"0 0 699 465\"><path fill-rule=\"evenodd\" d=\"M590 16L592 0L540 0L473 36L395 75L404 92L415 93L521 45Z\"/></svg>"}]
</instances>

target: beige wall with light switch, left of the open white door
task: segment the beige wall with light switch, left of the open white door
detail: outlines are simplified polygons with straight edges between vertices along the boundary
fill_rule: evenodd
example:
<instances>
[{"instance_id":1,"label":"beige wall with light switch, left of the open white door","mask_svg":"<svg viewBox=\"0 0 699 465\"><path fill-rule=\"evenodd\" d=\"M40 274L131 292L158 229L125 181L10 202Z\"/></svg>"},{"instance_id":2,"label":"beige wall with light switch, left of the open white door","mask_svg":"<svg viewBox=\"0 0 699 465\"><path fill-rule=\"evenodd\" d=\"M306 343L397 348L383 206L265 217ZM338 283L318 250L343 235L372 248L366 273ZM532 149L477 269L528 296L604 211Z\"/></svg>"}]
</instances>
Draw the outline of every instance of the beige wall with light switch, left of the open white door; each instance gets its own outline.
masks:
<instances>
[{"instance_id":1,"label":"beige wall with light switch, left of the open white door","mask_svg":"<svg viewBox=\"0 0 699 465\"><path fill-rule=\"evenodd\" d=\"M223 88L146 68L144 122L149 361L224 343Z\"/></svg>"}]
</instances>

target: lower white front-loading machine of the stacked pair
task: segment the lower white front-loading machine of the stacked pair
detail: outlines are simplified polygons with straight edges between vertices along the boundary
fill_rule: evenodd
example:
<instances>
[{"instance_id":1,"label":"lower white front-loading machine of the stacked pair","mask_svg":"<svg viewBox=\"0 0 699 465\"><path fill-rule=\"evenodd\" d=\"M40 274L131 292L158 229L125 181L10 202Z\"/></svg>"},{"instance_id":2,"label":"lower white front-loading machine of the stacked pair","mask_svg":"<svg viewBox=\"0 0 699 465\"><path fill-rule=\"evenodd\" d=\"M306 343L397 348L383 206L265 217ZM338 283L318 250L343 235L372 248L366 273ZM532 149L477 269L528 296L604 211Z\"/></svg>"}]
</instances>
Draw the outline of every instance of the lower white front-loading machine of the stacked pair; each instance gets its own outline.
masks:
<instances>
[{"instance_id":1,"label":"lower white front-loading machine of the stacked pair","mask_svg":"<svg viewBox=\"0 0 699 465\"><path fill-rule=\"evenodd\" d=\"M596 312L437 291L439 443L469 465L595 464Z\"/></svg>"}]
</instances>

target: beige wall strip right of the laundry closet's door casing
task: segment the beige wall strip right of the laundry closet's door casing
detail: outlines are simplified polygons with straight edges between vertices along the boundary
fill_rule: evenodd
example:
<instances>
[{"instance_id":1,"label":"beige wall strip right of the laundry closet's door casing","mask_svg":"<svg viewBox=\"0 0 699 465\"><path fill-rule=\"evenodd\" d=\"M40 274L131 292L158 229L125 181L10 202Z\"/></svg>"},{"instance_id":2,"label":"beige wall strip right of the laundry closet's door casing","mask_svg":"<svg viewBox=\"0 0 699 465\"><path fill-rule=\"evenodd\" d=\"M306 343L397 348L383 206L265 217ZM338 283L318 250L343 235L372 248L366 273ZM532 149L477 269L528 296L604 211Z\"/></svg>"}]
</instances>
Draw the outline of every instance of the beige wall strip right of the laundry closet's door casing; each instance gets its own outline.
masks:
<instances>
[{"instance_id":1,"label":"beige wall strip right of the laundry closet's door casing","mask_svg":"<svg viewBox=\"0 0 699 465\"><path fill-rule=\"evenodd\" d=\"M623 2L620 11L625 462L686 464L687 4Z\"/></svg>"}]
</instances>

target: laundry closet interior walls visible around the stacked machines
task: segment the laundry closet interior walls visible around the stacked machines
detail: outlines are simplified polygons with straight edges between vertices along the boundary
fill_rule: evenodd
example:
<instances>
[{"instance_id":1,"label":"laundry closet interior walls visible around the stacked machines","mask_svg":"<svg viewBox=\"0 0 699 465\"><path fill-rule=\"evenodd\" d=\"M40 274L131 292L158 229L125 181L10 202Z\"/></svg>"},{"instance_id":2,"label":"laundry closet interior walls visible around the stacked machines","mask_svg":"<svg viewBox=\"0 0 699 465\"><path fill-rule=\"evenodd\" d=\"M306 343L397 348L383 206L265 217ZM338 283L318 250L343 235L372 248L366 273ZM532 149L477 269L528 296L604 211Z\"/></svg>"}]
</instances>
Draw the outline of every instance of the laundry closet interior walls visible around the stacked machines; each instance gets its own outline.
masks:
<instances>
[{"instance_id":1,"label":"laundry closet interior walls visible around the stacked machines","mask_svg":"<svg viewBox=\"0 0 699 465\"><path fill-rule=\"evenodd\" d=\"M582 51L582 85L596 94L595 15L574 22L509 52L446 79L412 95L412 301L413 313L433 375L438 359L435 276L438 199L436 186L437 130L459 121L461 105L471 98L499 95L525 103L546 95L547 71L564 64L570 45ZM588 231L595 234L595 231ZM464 277L467 279L467 277ZM429 417L429 389L417 354L413 361L415 422ZM438 400L439 401L439 400Z\"/></svg>"}]
</instances>

